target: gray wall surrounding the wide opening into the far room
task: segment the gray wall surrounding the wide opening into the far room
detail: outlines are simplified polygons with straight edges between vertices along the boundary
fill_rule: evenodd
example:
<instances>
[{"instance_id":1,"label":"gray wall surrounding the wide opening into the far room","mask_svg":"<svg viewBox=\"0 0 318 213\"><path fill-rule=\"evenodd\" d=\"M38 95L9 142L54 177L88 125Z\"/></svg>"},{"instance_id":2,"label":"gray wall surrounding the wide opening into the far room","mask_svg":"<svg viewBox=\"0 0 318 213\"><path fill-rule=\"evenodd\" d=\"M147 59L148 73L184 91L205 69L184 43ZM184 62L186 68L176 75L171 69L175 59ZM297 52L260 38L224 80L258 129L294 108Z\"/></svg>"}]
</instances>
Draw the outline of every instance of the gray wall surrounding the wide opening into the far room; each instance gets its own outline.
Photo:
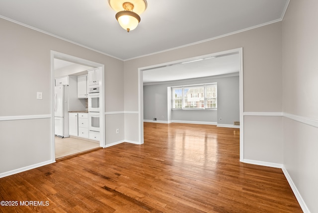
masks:
<instances>
[{"instance_id":1,"label":"gray wall surrounding the wide opening into the far room","mask_svg":"<svg viewBox=\"0 0 318 213\"><path fill-rule=\"evenodd\" d=\"M139 68L155 66L158 64L187 59L200 55L207 55L221 51L243 48L243 82L244 82L244 112L257 112L259 114L282 111L282 23L276 22L255 29L243 31L237 34L225 36L218 39L189 45L179 49L173 49L154 55L127 60L124 62L124 85L125 85L125 111L139 111ZM270 86L269 86L270 85ZM141 88L142 89L142 88ZM143 96L141 97L143 98ZM142 110L142 106L141 106ZM134 114L135 115L135 114ZM143 118L143 113L140 115ZM261 119L258 114L254 116ZM274 117L269 117L270 122L275 125L279 122ZM125 132L125 138L132 141L139 140L140 128L139 116L125 117L125 123L134 126L135 131ZM248 121L247 121L248 122ZM280 131L282 132L282 125ZM244 128L244 134L260 131L262 126L257 122ZM271 129L270 129L271 130ZM244 140L246 146L252 144L253 149L244 153L250 160L267 161L263 156L270 155L272 163L282 163L281 149L283 141L275 139L273 144L268 144L272 139L269 135L275 132L268 131L265 137L257 140ZM266 131L263 129L263 131ZM245 144L244 144L245 146ZM264 149L266 147L266 149ZM279 151L271 153L271 150ZM269 151L268 151L269 150ZM259 155L257 155L259 153ZM255 154L257 155L255 157Z\"/></svg>"}]
</instances>

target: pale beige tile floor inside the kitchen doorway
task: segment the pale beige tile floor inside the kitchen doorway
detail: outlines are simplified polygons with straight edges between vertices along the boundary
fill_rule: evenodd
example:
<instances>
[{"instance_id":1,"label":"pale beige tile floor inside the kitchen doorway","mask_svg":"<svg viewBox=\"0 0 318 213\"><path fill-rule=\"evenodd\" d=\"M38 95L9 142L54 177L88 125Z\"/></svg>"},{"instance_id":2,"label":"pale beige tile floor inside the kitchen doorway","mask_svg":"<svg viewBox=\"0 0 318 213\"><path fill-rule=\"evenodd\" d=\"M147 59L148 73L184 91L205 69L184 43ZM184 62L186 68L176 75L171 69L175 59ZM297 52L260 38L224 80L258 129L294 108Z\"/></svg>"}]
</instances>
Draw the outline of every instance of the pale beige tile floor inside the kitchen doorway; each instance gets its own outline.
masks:
<instances>
[{"instance_id":1,"label":"pale beige tile floor inside the kitchen doorway","mask_svg":"<svg viewBox=\"0 0 318 213\"><path fill-rule=\"evenodd\" d=\"M97 147L99 147L98 141L91 142L74 137L61 138L55 136L55 159Z\"/></svg>"}]
</instances>

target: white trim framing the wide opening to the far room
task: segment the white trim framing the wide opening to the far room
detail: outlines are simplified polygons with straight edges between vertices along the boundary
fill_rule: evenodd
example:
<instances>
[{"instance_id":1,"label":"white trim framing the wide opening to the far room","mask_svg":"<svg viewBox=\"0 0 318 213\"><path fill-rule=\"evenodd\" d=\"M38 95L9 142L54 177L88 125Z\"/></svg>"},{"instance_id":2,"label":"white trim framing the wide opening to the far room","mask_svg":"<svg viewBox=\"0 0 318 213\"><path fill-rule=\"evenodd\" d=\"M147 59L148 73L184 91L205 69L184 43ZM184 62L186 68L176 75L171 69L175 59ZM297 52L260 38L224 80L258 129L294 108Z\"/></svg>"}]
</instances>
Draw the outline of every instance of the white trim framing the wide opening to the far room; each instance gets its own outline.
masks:
<instances>
[{"instance_id":1,"label":"white trim framing the wide opening to the far room","mask_svg":"<svg viewBox=\"0 0 318 213\"><path fill-rule=\"evenodd\" d=\"M153 65L149 67L142 67L138 69L138 92L139 92L139 141L140 144L144 143L144 128L143 128L143 122L144 122L144 72L149 71L149 70L156 70L159 68L164 68L164 67L171 67L175 65L180 65L180 64L188 64L191 62L197 62L197 61L204 61L206 59L210 58L217 58L217 57L222 57L225 55L231 55L231 54L238 54L238 73L239 73L239 129L240 129L240 142L239 142L239 156L240 156L240 161L244 159L243 156L243 150L244 150L244 142L243 142L243 133L244 133L244 120L243 120L243 52L242 48L238 49L232 49L232 50L227 50L227 51L222 51L222 52L217 52L217 53L212 53L212 54L207 54L207 55L202 55L202 56L197 56L193 58L187 58L187 59L182 59L178 61L173 61L173 62L168 62L168 63L163 63L163 64L158 64L158 65ZM215 74L210 73L209 76L213 76Z\"/></svg>"}]
</instances>

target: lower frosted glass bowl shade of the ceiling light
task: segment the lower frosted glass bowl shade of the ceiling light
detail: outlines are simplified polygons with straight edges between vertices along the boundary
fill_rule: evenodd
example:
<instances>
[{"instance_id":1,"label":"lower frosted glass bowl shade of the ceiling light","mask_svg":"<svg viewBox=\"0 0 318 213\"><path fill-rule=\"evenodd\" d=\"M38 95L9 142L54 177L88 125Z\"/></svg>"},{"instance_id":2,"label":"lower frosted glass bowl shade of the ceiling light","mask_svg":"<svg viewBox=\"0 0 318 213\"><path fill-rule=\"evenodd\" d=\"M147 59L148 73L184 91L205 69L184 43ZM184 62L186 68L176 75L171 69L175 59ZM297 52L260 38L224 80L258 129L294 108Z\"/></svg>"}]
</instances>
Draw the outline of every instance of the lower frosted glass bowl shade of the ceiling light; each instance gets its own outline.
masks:
<instances>
[{"instance_id":1,"label":"lower frosted glass bowl shade of the ceiling light","mask_svg":"<svg viewBox=\"0 0 318 213\"><path fill-rule=\"evenodd\" d=\"M135 29L140 22L140 16L137 13L128 10L117 12L116 19L120 26L127 30L127 32Z\"/></svg>"}]
</instances>

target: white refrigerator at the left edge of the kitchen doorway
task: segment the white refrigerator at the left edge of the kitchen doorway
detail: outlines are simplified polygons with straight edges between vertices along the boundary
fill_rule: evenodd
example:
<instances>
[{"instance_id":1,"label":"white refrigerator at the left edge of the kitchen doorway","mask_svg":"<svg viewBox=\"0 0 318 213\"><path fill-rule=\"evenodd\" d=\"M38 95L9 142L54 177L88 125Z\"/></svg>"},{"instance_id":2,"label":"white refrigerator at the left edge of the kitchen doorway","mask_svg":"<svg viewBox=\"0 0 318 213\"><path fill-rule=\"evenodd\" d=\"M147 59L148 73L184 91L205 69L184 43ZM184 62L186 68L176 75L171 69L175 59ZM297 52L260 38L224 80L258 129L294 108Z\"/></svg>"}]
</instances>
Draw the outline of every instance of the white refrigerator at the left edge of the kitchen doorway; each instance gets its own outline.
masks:
<instances>
[{"instance_id":1,"label":"white refrigerator at the left edge of the kitchen doorway","mask_svg":"<svg viewBox=\"0 0 318 213\"><path fill-rule=\"evenodd\" d=\"M68 91L68 86L54 87L54 134L59 137L70 137Z\"/></svg>"}]
</instances>

